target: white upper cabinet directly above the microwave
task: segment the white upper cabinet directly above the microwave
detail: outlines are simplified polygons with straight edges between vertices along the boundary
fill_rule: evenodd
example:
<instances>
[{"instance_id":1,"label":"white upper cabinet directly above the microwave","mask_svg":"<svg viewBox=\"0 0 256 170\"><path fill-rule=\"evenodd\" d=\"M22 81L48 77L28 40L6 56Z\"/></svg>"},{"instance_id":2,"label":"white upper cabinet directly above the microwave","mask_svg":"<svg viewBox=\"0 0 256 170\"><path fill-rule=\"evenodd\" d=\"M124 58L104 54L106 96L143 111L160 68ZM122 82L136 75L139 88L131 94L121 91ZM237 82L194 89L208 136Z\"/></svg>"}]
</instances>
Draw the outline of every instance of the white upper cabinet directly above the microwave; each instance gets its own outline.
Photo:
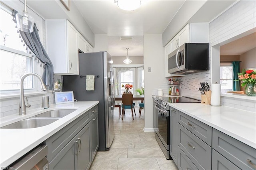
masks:
<instances>
[{"instance_id":1,"label":"white upper cabinet directly above the microwave","mask_svg":"<svg viewBox=\"0 0 256 170\"><path fill-rule=\"evenodd\" d=\"M171 52L184 43L207 43L209 42L209 24L208 23L188 23L180 32L170 41Z\"/></svg>"}]
</instances>

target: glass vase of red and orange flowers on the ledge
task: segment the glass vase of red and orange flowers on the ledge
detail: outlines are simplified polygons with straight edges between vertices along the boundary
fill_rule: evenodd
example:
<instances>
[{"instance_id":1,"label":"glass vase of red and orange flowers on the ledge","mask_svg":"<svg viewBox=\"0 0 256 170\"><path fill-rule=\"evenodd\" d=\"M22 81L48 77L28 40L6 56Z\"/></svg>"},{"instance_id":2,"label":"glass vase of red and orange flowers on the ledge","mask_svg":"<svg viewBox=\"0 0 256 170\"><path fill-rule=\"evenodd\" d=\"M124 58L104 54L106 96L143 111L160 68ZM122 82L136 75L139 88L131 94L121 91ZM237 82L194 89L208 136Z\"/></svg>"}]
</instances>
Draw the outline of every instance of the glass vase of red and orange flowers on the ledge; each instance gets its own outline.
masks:
<instances>
[{"instance_id":1,"label":"glass vase of red and orange flowers on the ledge","mask_svg":"<svg viewBox=\"0 0 256 170\"><path fill-rule=\"evenodd\" d=\"M242 81L241 86L246 86L246 95L256 96L256 71L243 69L242 73L238 73L238 78Z\"/></svg>"}]
</instances>

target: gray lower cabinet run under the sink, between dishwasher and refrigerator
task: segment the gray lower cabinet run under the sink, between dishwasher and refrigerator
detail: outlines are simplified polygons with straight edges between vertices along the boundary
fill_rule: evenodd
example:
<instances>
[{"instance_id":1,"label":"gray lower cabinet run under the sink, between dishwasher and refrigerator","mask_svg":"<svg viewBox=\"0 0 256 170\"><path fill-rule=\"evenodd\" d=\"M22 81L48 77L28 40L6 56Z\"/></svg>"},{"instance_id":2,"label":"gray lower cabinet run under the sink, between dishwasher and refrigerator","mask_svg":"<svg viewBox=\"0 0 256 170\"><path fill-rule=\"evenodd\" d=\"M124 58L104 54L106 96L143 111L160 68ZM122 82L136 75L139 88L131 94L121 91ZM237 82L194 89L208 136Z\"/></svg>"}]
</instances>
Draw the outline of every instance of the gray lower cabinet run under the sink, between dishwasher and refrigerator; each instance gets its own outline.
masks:
<instances>
[{"instance_id":1,"label":"gray lower cabinet run under the sink, between dishwasher and refrigerator","mask_svg":"<svg viewBox=\"0 0 256 170\"><path fill-rule=\"evenodd\" d=\"M91 120L88 121L88 117ZM48 138L46 144L51 148L46 156L50 170L88 170L99 146L98 107L90 109L62 128Z\"/></svg>"}]
</instances>

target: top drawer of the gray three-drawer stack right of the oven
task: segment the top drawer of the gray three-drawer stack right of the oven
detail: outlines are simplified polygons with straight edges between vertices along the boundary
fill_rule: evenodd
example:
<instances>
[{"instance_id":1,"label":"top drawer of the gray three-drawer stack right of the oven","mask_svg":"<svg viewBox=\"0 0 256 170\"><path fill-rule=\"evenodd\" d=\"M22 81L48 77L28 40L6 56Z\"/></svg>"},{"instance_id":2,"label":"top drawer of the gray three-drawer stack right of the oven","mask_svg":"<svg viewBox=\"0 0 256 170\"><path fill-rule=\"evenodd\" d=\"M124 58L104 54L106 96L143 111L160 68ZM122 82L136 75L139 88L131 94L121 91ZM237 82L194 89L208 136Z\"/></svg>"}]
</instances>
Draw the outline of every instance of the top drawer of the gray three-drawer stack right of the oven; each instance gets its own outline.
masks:
<instances>
[{"instance_id":1,"label":"top drawer of the gray three-drawer stack right of the oven","mask_svg":"<svg viewBox=\"0 0 256 170\"><path fill-rule=\"evenodd\" d=\"M198 138L212 146L212 127L179 112L179 123L195 134Z\"/></svg>"}]
</instances>

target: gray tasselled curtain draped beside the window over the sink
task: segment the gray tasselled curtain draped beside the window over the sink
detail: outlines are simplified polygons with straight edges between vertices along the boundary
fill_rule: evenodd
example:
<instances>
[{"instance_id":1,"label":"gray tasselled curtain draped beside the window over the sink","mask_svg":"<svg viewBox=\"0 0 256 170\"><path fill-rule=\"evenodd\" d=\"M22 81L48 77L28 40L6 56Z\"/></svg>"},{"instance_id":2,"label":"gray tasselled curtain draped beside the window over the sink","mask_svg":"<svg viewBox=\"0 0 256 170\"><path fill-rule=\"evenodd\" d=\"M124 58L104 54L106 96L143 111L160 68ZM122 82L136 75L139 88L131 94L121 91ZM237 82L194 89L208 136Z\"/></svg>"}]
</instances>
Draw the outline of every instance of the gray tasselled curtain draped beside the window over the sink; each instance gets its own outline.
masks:
<instances>
[{"instance_id":1,"label":"gray tasselled curtain draped beside the window over the sink","mask_svg":"<svg viewBox=\"0 0 256 170\"><path fill-rule=\"evenodd\" d=\"M17 11L13 10L12 16L15 23L16 22L16 15ZM42 43L40 42L38 29L36 27L36 23L34 23L34 29L32 33L23 32L18 30L23 42L27 45L27 47L36 55L36 57L44 63L44 73L42 75L42 79L45 85L49 86L49 89L52 90L54 87L54 72L53 72L53 65L52 61L50 60L48 54L46 53Z\"/></svg>"}]
</instances>

